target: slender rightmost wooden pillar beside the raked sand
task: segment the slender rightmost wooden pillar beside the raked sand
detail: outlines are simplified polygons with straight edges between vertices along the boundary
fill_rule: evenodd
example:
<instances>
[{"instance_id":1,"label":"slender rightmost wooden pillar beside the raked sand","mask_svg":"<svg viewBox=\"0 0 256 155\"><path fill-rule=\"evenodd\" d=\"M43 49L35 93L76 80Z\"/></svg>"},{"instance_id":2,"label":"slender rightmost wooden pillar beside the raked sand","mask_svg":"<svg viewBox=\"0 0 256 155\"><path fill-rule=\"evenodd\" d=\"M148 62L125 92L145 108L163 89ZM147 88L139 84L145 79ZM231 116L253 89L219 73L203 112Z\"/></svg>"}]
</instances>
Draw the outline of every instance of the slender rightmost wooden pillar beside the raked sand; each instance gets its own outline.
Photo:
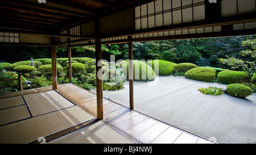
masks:
<instances>
[{"instance_id":1,"label":"slender rightmost wooden pillar beside the raked sand","mask_svg":"<svg viewBox=\"0 0 256 155\"><path fill-rule=\"evenodd\" d=\"M129 36L129 40L131 36ZM130 109L134 109L134 98L133 98L133 42L129 41L129 95L130 95Z\"/></svg>"}]
</instances>

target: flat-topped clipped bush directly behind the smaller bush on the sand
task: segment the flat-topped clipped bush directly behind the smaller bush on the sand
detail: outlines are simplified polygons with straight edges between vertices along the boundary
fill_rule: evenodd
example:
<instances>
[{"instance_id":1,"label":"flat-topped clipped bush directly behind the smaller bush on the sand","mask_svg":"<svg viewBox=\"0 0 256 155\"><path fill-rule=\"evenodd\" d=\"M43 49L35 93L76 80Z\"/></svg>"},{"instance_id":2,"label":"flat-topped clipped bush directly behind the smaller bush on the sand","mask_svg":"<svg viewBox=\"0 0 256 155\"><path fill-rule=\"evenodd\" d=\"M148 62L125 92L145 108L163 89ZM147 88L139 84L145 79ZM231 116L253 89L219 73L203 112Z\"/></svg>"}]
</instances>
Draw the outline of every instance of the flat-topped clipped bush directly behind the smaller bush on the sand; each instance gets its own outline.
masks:
<instances>
[{"instance_id":1,"label":"flat-topped clipped bush directly behind the smaller bush on the sand","mask_svg":"<svg viewBox=\"0 0 256 155\"><path fill-rule=\"evenodd\" d=\"M225 70L218 73L218 82L227 85L232 83L250 82L250 77L246 72Z\"/></svg>"}]
</instances>

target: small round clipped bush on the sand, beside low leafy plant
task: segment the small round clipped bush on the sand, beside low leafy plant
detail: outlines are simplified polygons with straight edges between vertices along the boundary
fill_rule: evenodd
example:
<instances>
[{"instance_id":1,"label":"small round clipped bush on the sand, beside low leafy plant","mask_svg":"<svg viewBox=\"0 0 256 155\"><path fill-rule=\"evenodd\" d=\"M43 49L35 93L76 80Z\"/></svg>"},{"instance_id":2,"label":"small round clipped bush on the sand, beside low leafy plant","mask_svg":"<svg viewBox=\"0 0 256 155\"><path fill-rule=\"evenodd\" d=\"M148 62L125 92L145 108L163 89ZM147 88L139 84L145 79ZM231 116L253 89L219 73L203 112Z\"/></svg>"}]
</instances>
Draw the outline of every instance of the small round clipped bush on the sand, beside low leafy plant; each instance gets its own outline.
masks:
<instances>
[{"instance_id":1,"label":"small round clipped bush on the sand, beside low leafy plant","mask_svg":"<svg viewBox=\"0 0 256 155\"><path fill-rule=\"evenodd\" d=\"M226 92L233 97L246 98L253 94L253 90L250 87L240 84L230 84L226 87Z\"/></svg>"}]
</instances>

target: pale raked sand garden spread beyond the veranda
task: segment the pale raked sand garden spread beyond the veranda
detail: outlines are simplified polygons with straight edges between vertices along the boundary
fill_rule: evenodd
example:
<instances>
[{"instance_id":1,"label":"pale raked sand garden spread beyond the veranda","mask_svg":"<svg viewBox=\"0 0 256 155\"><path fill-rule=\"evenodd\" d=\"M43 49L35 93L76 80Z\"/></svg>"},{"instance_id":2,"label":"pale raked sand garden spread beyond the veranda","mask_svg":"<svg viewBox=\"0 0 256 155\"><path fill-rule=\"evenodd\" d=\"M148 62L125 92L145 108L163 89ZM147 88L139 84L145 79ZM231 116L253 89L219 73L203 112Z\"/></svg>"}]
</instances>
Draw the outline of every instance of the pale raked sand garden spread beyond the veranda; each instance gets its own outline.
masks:
<instances>
[{"instance_id":1,"label":"pale raked sand garden spread beyond the veranda","mask_svg":"<svg viewBox=\"0 0 256 155\"><path fill-rule=\"evenodd\" d=\"M198 91L209 86L226 89L227 85L183 76L134 82L134 110L217 143L255 141L256 94L242 99L228 94L204 95ZM105 90L104 96L129 107L129 81L121 90Z\"/></svg>"}]
</instances>

